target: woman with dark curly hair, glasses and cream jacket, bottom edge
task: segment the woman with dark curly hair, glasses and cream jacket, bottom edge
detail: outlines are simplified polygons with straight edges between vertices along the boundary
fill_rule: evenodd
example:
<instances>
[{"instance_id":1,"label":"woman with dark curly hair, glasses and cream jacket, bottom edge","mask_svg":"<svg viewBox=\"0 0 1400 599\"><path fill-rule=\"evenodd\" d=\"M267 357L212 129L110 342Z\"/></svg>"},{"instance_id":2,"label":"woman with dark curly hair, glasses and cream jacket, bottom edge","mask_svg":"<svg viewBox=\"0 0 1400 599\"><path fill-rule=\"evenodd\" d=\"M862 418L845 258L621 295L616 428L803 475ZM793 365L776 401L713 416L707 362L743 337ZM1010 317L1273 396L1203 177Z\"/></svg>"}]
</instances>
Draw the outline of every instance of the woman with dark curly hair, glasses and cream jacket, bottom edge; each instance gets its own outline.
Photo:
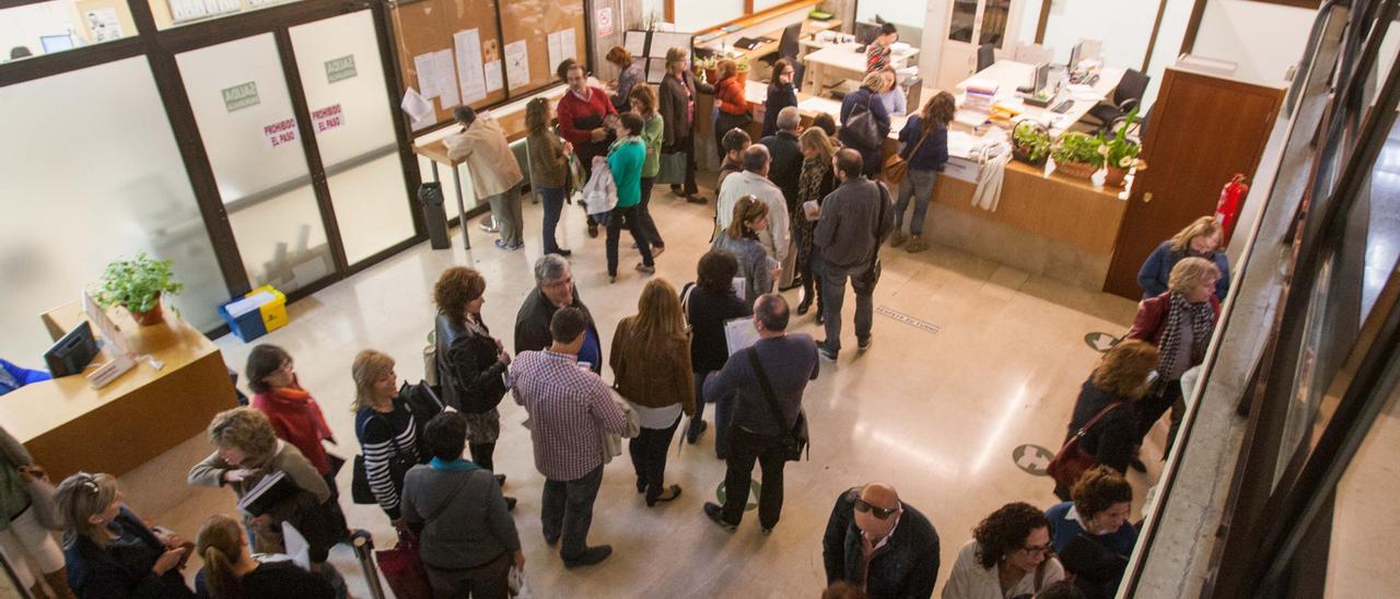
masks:
<instances>
[{"instance_id":1,"label":"woman with dark curly hair, glasses and cream jacket, bottom edge","mask_svg":"<svg viewBox=\"0 0 1400 599\"><path fill-rule=\"evenodd\" d=\"M1030 504L1002 505L958 551L944 599L1021 599L1060 582L1064 567L1050 544L1050 519Z\"/></svg>"}]
</instances>

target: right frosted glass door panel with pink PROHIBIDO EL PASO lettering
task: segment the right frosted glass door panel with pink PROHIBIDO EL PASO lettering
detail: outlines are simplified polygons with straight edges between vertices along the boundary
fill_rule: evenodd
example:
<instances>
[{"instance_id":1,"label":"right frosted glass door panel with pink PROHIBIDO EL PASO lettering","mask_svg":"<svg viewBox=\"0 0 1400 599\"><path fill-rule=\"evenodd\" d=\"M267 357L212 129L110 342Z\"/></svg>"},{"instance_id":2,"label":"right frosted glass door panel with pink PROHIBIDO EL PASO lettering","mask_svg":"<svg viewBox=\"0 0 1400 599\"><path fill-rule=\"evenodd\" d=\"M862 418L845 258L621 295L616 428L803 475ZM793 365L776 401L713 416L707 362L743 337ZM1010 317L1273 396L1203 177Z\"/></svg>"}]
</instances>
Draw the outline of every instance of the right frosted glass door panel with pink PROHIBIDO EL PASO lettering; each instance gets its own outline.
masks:
<instances>
[{"instance_id":1,"label":"right frosted glass door panel with pink PROHIBIDO EL PASO lettering","mask_svg":"<svg viewBox=\"0 0 1400 599\"><path fill-rule=\"evenodd\" d=\"M374 18L363 10L294 27L291 46L354 265L414 232Z\"/></svg>"}]
</instances>

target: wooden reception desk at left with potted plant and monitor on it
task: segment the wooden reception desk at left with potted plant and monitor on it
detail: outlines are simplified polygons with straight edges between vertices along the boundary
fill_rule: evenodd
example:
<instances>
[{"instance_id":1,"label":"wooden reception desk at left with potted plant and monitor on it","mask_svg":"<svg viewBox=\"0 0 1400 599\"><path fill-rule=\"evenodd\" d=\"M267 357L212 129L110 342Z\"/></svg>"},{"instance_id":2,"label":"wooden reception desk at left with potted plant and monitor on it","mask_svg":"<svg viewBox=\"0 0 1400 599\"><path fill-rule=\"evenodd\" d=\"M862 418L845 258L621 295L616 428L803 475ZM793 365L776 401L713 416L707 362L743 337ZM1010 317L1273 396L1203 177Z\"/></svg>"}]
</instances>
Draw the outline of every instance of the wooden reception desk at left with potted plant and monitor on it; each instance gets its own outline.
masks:
<instances>
[{"instance_id":1,"label":"wooden reception desk at left with potted plant and monitor on it","mask_svg":"<svg viewBox=\"0 0 1400 599\"><path fill-rule=\"evenodd\" d=\"M125 309L108 315L146 361L102 389L85 374L27 385L0 397L0 423L29 448L55 481L78 470L122 474L209 427L216 413L238 407L223 354L199 330L165 311L165 323L139 326ZM80 302L43 316L57 332L87 319ZM94 361L109 360L104 351Z\"/></svg>"}]
</instances>

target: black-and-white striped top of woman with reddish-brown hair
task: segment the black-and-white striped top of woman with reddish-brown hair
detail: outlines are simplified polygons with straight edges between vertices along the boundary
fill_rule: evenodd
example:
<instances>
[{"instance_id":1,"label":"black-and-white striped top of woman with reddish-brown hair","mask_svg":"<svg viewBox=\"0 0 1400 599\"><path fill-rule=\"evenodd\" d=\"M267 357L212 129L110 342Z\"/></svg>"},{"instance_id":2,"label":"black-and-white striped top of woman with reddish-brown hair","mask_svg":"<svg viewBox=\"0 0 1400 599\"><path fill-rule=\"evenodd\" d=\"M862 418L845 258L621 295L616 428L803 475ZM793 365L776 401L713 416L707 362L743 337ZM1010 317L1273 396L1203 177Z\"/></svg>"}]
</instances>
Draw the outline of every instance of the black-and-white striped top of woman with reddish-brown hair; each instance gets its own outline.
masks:
<instances>
[{"instance_id":1,"label":"black-and-white striped top of woman with reddish-brown hair","mask_svg":"<svg viewBox=\"0 0 1400 599\"><path fill-rule=\"evenodd\" d=\"M370 491L393 519L399 518L403 481L395 481L389 474L389 459L403 453L413 463L419 462L416 431L413 413L398 399L393 400L393 411L382 413L365 407L356 414L356 437L360 438L360 451L364 453L364 473L370 481Z\"/></svg>"}]
</instances>

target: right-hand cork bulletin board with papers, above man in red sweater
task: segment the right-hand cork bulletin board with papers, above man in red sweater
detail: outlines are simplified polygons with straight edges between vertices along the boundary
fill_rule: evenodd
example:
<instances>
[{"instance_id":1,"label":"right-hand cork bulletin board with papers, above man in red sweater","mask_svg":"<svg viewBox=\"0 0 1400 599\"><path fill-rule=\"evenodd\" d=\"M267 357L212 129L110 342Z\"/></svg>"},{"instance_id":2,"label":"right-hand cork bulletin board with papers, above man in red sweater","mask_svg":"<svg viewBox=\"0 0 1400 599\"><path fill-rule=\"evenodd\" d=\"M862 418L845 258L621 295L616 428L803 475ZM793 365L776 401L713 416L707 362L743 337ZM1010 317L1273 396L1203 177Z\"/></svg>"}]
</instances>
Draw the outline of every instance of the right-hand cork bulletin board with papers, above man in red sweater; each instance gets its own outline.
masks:
<instances>
[{"instance_id":1,"label":"right-hand cork bulletin board with papers, above man in red sweater","mask_svg":"<svg viewBox=\"0 0 1400 599\"><path fill-rule=\"evenodd\" d=\"M573 57L585 67L588 64L584 0L505 1L501 28L511 97L521 97L557 81L554 70L564 57ZM568 31L571 34L566 34ZM521 50L526 60L518 62Z\"/></svg>"}]
</instances>

